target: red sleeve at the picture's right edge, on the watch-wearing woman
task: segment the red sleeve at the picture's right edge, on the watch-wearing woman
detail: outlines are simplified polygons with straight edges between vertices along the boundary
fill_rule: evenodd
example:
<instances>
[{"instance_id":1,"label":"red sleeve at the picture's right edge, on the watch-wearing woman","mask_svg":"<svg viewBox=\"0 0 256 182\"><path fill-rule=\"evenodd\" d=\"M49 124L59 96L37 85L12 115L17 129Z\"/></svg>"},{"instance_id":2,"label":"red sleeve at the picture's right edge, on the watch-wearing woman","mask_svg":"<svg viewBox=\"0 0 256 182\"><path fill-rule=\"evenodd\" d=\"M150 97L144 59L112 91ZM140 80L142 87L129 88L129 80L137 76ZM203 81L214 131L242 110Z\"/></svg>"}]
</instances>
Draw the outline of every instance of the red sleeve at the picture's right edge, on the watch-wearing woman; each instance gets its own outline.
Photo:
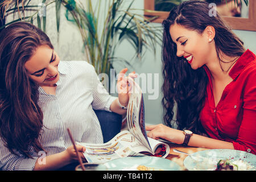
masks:
<instances>
[{"instance_id":1,"label":"red sleeve at the picture's right edge, on the watch-wearing woman","mask_svg":"<svg viewBox=\"0 0 256 182\"><path fill-rule=\"evenodd\" d=\"M243 119L237 140L233 142L233 145L236 150L256 155L256 69L251 69L245 84Z\"/></svg>"}]
</instances>

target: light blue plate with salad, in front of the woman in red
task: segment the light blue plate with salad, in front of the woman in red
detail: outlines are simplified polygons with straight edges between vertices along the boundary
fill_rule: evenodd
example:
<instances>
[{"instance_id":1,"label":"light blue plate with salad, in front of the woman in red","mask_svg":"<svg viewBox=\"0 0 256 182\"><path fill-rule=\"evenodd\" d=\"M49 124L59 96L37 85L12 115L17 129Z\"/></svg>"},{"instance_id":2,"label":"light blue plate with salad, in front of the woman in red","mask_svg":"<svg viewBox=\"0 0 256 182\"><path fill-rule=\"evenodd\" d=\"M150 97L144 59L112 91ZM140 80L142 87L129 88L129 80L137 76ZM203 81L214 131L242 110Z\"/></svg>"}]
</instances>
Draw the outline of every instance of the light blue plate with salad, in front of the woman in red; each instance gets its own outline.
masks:
<instances>
[{"instance_id":1,"label":"light blue plate with salad, in front of the woman in red","mask_svg":"<svg viewBox=\"0 0 256 182\"><path fill-rule=\"evenodd\" d=\"M213 171L216 169L218 161L225 159L238 164L238 170L241 171L255 171L256 169L256 155L245 151L213 149L195 152L192 155L199 160L192 159L191 156L184 159L183 164L189 171Z\"/></svg>"}]
</instances>

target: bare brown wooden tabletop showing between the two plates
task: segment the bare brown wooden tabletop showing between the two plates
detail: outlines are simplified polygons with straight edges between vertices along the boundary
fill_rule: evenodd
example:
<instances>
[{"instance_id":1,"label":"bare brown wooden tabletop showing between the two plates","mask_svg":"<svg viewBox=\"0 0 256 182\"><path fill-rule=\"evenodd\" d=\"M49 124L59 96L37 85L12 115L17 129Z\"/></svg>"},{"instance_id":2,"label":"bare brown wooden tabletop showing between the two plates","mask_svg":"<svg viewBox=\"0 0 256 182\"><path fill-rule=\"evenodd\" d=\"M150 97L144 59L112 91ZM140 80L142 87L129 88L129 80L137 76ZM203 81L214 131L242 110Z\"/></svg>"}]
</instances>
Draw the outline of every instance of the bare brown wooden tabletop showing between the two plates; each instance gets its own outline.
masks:
<instances>
[{"instance_id":1,"label":"bare brown wooden tabletop showing between the two plates","mask_svg":"<svg viewBox=\"0 0 256 182\"><path fill-rule=\"evenodd\" d=\"M167 144L170 146L170 152L169 152L169 155L166 157L166 159L169 159L169 160L172 160L173 162L176 162L182 168L184 168L184 170L186 170L186 168L183 165L183 160L188 155L174 152L173 151L174 149L179 150L181 152L186 152L188 154L193 154L195 152L203 151L203 150L209 150L208 148L186 147L186 146L182 146L180 144L174 144L174 143L167 143Z\"/></svg>"}]
</instances>

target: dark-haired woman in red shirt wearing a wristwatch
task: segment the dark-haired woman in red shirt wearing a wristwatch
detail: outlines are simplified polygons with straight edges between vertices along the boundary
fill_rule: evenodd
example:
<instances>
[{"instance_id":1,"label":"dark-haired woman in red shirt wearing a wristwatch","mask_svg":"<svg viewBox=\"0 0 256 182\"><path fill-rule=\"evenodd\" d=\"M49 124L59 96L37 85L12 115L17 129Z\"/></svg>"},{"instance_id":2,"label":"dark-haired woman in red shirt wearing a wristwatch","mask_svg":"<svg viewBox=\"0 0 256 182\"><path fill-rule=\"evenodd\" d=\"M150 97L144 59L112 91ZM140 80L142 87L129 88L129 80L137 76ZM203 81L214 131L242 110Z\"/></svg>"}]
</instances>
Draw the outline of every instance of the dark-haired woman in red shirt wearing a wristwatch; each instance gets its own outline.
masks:
<instances>
[{"instance_id":1,"label":"dark-haired woman in red shirt wearing a wristwatch","mask_svg":"<svg viewBox=\"0 0 256 182\"><path fill-rule=\"evenodd\" d=\"M147 126L148 137L256 154L255 55L210 10L207 2L186 1L163 21L167 126Z\"/></svg>"}]
</instances>

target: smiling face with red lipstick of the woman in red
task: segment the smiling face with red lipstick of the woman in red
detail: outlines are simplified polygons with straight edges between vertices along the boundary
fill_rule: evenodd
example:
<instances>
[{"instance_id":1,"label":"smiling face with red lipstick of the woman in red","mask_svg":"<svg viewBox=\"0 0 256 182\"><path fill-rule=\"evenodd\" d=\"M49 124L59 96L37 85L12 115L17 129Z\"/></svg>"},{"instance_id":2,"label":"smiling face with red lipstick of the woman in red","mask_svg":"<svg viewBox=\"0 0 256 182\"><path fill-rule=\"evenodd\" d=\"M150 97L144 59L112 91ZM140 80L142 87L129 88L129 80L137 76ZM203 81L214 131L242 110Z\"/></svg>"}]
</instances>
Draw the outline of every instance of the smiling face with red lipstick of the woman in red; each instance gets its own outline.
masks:
<instances>
[{"instance_id":1,"label":"smiling face with red lipstick of the woman in red","mask_svg":"<svg viewBox=\"0 0 256 182\"><path fill-rule=\"evenodd\" d=\"M207 64L212 46L209 44L210 35L206 31L199 34L199 32L188 30L175 23L170 27L170 35L177 46L176 55L187 59L192 69Z\"/></svg>"}]
</instances>

